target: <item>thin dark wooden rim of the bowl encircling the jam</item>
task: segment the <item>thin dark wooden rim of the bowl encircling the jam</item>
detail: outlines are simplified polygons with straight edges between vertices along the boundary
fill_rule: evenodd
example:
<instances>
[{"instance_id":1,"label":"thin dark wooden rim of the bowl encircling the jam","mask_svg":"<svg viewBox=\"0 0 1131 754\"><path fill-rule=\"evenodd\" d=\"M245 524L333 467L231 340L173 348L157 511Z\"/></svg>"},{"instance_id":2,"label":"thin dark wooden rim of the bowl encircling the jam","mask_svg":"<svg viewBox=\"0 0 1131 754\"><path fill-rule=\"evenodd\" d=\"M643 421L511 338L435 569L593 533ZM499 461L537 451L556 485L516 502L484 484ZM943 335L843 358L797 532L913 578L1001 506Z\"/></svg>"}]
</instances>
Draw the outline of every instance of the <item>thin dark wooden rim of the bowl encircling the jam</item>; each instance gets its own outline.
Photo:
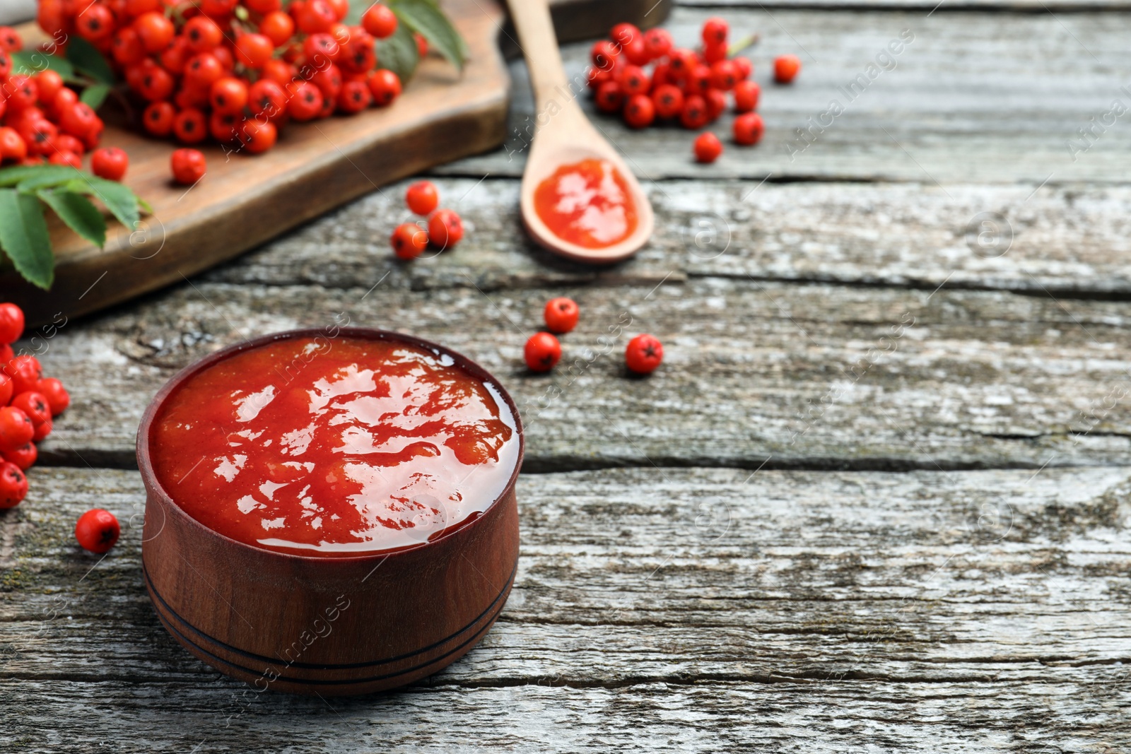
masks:
<instances>
[{"instance_id":1,"label":"thin dark wooden rim of the bowl encircling the jam","mask_svg":"<svg viewBox=\"0 0 1131 754\"><path fill-rule=\"evenodd\" d=\"M335 331L331 336L329 331ZM416 545L408 545L405 547L396 547L389 549L375 549L372 552L363 553L361 555L297 555L292 553L284 553L276 549L268 549L266 547L257 547L254 545L249 545L245 541L240 541L239 539L233 539L225 534L217 531L210 527L205 526L196 518L189 514L183 508L181 508L173 496L170 495L165 488L162 486L161 482L157 479L157 475L153 469L153 461L149 456L149 435L153 428L153 424L156 421L157 414L164 406L169 397L180 388L190 378L195 376L199 372L217 364L225 358L228 358L235 354L249 350L251 348L258 348L271 343L279 340L293 340L296 338L304 337L322 337L329 340L337 338L360 338L364 340L398 340L402 343L407 343L412 346L417 346L426 350L431 350L435 354L447 354L450 356L456 365L460 369L467 371L473 376L482 382L490 382L499 391L502 397L503 402L510 409L511 416L515 417L515 427L518 433L518 458L515 461L515 468L511 470L510 479L503 487L502 492L491 501L483 511L476 515L470 521L464 519L463 522L458 522L455 526L448 527L446 532L441 532L441 536L434 539L425 539L424 541ZM441 346L440 344L432 343L431 340L425 340L424 338L418 338L413 335L407 335L404 332L396 332L394 330L382 330L379 328L359 328L359 327L327 327L327 328L296 328L293 330L280 330L278 332L270 332L267 335L257 336L248 340L241 340L240 343L232 344L231 346L225 346L218 350L215 350L207 356L204 356L189 365L184 366L171 376L165 384L161 387L159 390L154 395L153 400L146 407L145 413L141 415L141 423L138 425L137 441L137 461L138 470L141 473L141 483L146 489L146 505L148 508L148 496L150 494L157 495L161 502L164 503L165 514L169 515L169 510L175 511L174 515L182 517L191 527L198 528L206 536L217 537L218 539L226 540L226 544L243 548L248 551L249 555L265 556L265 557L279 557L286 562L293 563L325 563L327 566L333 564L348 565L348 564L360 564L368 563L371 561L385 560L387 557L395 557L397 555L404 555L407 553L420 553L429 547L439 546L441 543L447 543L447 540L452 537L469 531L470 529L481 525L481 522L487 518L487 514L494 511L500 502L504 500L508 495L512 494L515 486L518 482L519 470L523 468L523 459L525 457L526 450L526 435L523 430L523 417L518 413L518 406L515 405L515 400L510 397L510 393L503 387L503 384L490 372L480 366L476 362L468 358L467 356L460 354L457 350L452 350L447 346ZM143 541L143 545L145 541Z\"/></svg>"}]
</instances>

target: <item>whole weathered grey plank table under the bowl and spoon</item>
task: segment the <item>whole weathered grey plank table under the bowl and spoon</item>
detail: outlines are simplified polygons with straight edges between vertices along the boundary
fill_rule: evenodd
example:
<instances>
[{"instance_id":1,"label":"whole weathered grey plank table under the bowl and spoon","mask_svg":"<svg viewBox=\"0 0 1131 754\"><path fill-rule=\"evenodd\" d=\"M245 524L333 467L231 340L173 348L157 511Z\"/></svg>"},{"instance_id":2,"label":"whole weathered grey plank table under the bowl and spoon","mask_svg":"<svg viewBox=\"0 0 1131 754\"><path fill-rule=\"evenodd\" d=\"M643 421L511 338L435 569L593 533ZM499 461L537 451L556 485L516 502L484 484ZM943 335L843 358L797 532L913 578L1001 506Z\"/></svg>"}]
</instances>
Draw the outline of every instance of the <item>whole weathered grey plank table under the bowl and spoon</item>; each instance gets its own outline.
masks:
<instances>
[{"instance_id":1,"label":"whole weathered grey plank table under the bowl and spoon","mask_svg":"<svg viewBox=\"0 0 1131 754\"><path fill-rule=\"evenodd\" d=\"M694 5L670 23L684 43ZM766 86L763 144L710 167L685 132L599 121L658 213L629 263L525 240L515 64L508 147L439 172L456 251L390 261L386 187L40 344L74 407L0 518L0 748L1131 751L1131 114L1108 115L1131 107L1131 17L731 5L759 79L782 52L805 68ZM581 324L532 376L560 294ZM343 313L506 381L528 426L519 573L424 683L256 694L157 623L133 433L189 361ZM638 331L666 347L647 380L622 367ZM128 523L105 558L71 538L96 505Z\"/></svg>"}]
</instances>

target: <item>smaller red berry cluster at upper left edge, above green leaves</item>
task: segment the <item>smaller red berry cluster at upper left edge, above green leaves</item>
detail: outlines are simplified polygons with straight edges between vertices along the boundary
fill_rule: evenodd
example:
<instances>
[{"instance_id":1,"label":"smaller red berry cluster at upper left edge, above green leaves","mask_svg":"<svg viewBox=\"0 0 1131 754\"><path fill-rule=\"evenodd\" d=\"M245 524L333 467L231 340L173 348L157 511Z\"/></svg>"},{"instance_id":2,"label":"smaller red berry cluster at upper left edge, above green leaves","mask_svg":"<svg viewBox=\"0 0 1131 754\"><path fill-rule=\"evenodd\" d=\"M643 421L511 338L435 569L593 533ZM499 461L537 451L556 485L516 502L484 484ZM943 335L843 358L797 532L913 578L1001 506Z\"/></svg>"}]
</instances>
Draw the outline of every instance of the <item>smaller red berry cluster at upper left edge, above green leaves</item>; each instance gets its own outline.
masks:
<instances>
[{"instance_id":1,"label":"smaller red berry cluster at upper left edge, above green leaves","mask_svg":"<svg viewBox=\"0 0 1131 754\"><path fill-rule=\"evenodd\" d=\"M81 166L83 155L102 138L102 119L53 70L14 73L11 53L24 49L16 29L0 26L0 163ZM126 153L97 149L92 170L121 180Z\"/></svg>"}]
</instances>

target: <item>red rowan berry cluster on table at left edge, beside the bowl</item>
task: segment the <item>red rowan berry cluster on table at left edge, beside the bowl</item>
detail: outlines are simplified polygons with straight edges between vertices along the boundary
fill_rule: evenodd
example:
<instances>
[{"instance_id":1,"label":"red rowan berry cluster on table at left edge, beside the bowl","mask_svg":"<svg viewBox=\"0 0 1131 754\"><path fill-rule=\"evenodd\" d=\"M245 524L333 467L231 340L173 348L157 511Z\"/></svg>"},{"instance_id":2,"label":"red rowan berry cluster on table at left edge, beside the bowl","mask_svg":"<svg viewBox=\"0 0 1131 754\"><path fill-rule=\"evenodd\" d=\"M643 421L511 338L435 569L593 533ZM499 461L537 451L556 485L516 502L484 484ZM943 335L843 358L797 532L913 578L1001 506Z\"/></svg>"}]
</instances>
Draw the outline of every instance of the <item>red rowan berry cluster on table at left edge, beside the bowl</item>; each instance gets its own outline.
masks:
<instances>
[{"instance_id":1,"label":"red rowan berry cluster on table at left edge, beside the bowl","mask_svg":"<svg viewBox=\"0 0 1131 754\"><path fill-rule=\"evenodd\" d=\"M27 495L24 471L38 457L35 443L51 434L52 419L70 405L62 382L44 378L35 356L12 352L23 332L23 310L0 304L0 509Z\"/></svg>"}]
</instances>

